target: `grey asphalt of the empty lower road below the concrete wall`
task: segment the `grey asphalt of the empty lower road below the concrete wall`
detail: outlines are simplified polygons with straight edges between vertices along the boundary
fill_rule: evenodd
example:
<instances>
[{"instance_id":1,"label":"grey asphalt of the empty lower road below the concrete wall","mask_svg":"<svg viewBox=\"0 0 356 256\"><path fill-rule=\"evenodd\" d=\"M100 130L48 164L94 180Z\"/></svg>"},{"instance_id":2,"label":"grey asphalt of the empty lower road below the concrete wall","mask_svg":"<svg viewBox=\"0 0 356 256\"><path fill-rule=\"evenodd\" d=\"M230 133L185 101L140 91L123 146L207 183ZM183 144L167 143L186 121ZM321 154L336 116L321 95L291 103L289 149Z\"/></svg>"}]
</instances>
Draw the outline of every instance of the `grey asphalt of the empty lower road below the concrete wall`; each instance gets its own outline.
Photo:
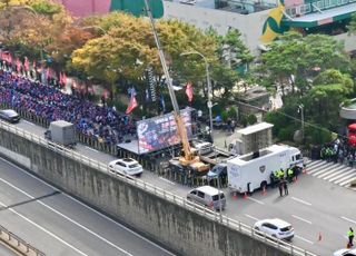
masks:
<instances>
[{"instance_id":1,"label":"grey asphalt of the empty lower road below the concrete wall","mask_svg":"<svg viewBox=\"0 0 356 256\"><path fill-rule=\"evenodd\" d=\"M1 158L0 225L51 256L174 255Z\"/></svg>"}]
</instances>

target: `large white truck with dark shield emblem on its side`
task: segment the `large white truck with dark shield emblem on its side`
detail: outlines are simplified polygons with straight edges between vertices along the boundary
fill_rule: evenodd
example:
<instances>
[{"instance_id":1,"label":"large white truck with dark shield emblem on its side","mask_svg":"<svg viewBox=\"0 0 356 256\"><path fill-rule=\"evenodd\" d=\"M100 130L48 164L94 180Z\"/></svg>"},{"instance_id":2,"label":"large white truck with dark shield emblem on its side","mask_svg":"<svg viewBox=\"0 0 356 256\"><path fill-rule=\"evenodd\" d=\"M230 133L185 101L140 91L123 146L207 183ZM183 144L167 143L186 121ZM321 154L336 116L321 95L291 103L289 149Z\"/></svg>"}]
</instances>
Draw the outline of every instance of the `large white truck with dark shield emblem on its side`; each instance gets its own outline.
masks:
<instances>
[{"instance_id":1,"label":"large white truck with dark shield emblem on its side","mask_svg":"<svg viewBox=\"0 0 356 256\"><path fill-rule=\"evenodd\" d=\"M270 184L270 174L279 169L293 168L300 171L304 160L295 147L273 145L227 160L228 186L237 193L253 193Z\"/></svg>"}]
</instances>

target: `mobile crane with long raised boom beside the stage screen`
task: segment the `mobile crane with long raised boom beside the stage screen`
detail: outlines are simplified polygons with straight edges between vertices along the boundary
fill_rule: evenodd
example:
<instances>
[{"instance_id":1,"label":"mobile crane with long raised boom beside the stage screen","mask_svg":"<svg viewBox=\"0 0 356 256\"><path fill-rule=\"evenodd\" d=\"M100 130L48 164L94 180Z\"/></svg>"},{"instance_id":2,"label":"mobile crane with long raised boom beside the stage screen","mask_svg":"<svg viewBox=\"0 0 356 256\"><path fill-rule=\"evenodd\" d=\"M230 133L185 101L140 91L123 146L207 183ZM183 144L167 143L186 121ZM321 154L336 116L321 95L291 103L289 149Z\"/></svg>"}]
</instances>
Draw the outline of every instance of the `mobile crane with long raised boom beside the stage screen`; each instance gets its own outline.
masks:
<instances>
[{"instance_id":1,"label":"mobile crane with long raised boom beside the stage screen","mask_svg":"<svg viewBox=\"0 0 356 256\"><path fill-rule=\"evenodd\" d=\"M186 126L185 126L184 119L181 118L180 112L179 112L177 98L176 98L174 87L172 87L172 80L169 76L169 71L168 71L168 67L167 67L167 62L166 62L166 58L165 58L165 52L161 48L161 45L160 45L160 41L158 38L155 19L154 19L152 13L149 9L148 0L144 0L144 1L145 1L145 7L146 7L146 12L147 12L147 16L149 18L149 21L150 21L150 24L152 28L156 46L157 46L158 53L159 53L160 63L162 66L164 73L166 76L166 81L167 81L167 86L168 86L170 100L174 106L174 116L175 116L175 120L176 120L176 125L177 125L177 132L178 132L178 135L181 139L181 144L182 144L182 155L179 157L179 164L182 167L189 166L191 169L197 170L197 171L206 171L209 169L209 165L202 163L200 160L200 157L196 155L196 151L189 145Z\"/></svg>"}]
</instances>

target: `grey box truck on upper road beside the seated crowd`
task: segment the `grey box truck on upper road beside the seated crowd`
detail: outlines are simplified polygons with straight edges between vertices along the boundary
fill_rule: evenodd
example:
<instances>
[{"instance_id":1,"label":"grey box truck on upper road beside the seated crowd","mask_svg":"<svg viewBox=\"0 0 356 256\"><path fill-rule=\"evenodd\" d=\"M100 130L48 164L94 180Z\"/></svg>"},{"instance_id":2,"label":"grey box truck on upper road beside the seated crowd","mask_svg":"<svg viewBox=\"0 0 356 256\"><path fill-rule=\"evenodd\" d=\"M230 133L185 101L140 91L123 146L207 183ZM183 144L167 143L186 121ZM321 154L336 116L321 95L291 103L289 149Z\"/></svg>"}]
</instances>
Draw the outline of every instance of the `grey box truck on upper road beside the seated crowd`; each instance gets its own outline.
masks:
<instances>
[{"instance_id":1,"label":"grey box truck on upper road beside the seated crowd","mask_svg":"<svg viewBox=\"0 0 356 256\"><path fill-rule=\"evenodd\" d=\"M48 130L44 131L44 138L66 147L73 148L76 146L75 126L63 120L52 121L49 125Z\"/></svg>"}]
</instances>

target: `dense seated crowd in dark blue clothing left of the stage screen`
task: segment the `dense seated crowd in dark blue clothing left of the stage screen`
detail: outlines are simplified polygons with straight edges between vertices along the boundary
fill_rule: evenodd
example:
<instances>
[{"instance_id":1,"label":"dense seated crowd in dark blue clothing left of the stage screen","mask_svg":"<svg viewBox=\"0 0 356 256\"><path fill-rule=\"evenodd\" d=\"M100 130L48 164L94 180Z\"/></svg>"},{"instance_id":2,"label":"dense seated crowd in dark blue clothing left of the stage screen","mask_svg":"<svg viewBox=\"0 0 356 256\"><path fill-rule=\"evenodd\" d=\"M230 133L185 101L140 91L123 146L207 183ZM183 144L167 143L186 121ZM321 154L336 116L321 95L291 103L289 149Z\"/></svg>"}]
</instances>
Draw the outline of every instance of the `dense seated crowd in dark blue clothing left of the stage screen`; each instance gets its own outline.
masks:
<instances>
[{"instance_id":1,"label":"dense seated crowd in dark blue clothing left of the stage screen","mask_svg":"<svg viewBox=\"0 0 356 256\"><path fill-rule=\"evenodd\" d=\"M72 95L67 95L53 86L7 71L0 71L0 104L31 112L48 121L72 122L83 135L110 145L136 135L135 120L115 108L100 107L75 90Z\"/></svg>"}]
</instances>

